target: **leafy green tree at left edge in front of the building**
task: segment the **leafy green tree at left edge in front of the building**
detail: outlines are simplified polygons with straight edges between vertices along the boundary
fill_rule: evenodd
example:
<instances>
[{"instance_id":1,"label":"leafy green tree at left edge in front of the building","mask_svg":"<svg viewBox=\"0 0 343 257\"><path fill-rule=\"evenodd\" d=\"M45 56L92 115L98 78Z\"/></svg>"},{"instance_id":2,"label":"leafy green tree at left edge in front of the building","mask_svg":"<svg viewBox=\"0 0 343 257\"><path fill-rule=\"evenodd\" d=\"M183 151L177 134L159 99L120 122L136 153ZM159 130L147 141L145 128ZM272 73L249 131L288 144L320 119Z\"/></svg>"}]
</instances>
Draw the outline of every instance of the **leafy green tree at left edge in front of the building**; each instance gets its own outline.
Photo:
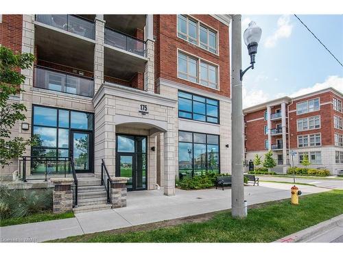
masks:
<instances>
[{"instance_id":1,"label":"leafy green tree at left edge in front of the building","mask_svg":"<svg viewBox=\"0 0 343 257\"><path fill-rule=\"evenodd\" d=\"M11 129L16 122L25 121L23 112L27 111L23 103L10 103L11 95L23 92L20 84L25 82L21 69L29 69L34 61L31 53L13 53L11 49L0 46L0 165L5 167L13 158L23 155L32 139L11 138Z\"/></svg>"}]
</instances>

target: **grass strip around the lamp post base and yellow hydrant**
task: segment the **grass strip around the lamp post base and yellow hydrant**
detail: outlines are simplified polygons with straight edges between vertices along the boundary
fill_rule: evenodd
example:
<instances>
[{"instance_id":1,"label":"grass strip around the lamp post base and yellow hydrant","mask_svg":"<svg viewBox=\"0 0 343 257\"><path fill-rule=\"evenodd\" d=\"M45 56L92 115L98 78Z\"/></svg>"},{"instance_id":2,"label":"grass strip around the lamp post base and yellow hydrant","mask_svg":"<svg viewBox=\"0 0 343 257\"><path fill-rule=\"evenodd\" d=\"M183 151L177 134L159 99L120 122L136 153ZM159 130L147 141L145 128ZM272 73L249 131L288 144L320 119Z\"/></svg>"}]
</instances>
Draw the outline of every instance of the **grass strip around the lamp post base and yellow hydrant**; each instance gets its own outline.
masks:
<instances>
[{"instance_id":1,"label":"grass strip around the lamp post base and yellow hydrant","mask_svg":"<svg viewBox=\"0 0 343 257\"><path fill-rule=\"evenodd\" d=\"M51 242L272 242L343 213L343 191L300 197L300 205L289 199L261 204L248 211L246 219L233 219L230 211L200 223L183 223L136 232L98 232Z\"/></svg>"}]
</instances>

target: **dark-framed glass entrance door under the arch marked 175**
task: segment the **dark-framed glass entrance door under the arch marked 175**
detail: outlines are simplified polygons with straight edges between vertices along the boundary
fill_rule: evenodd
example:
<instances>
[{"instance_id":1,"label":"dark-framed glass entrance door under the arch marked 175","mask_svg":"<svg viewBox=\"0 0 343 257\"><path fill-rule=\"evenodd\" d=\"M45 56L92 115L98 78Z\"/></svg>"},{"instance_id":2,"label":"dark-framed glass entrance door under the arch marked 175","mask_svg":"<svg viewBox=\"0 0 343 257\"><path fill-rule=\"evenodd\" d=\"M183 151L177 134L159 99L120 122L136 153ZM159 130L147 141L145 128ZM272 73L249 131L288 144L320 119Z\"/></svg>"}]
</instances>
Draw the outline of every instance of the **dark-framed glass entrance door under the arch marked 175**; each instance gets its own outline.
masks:
<instances>
[{"instance_id":1,"label":"dark-framed glass entrance door under the arch marked 175","mask_svg":"<svg viewBox=\"0 0 343 257\"><path fill-rule=\"evenodd\" d=\"M128 191L147 188L146 136L117 135L116 176L129 178Z\"/></svg>"}]
</instances>

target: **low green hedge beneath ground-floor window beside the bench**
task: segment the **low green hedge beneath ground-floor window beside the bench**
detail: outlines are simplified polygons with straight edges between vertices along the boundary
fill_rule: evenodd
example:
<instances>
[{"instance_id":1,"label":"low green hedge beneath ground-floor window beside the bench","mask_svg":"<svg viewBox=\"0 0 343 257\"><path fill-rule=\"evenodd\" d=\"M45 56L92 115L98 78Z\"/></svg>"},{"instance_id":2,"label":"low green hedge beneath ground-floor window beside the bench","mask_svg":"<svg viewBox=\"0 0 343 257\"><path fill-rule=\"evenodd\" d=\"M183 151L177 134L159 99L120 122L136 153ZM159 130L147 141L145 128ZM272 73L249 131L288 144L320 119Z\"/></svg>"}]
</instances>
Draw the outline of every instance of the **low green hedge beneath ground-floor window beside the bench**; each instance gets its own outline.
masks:
<instances>
[{"instance_id":1,"label":"low green hedge beneath ground-floor window beside the bench","mask_svg":"<svg viewBox=\"0 0 343 257\"><path fill-rule=\"evenodd\" d=\"M230 176L230 174L217 174L206 172L203 175L195 175L193 178L182 178L176 182L176 186L181 189L204 189L215 186L217 177ZM244 183L248 183L248 178L244 177Z\"/></svg>"}]
</instances>

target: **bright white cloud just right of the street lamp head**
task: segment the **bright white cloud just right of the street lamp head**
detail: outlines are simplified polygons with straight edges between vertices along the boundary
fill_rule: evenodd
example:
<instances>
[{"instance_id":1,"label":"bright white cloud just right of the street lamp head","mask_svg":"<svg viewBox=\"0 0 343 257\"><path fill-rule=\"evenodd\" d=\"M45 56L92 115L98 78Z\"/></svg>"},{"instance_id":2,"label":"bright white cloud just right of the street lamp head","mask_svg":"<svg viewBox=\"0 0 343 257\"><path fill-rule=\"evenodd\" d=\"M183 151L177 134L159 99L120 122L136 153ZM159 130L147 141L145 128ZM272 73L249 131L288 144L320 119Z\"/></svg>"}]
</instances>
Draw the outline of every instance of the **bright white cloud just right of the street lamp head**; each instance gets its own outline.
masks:
<instances>
[{"instance_id":1,"label":"bright white cloud just right of the street lamp head","mask_svg":"<svg viewBox=\"0 0 343 257\"><path fill-rule=\"evenodd\" d=\"M278 28L271 36L265 39L264 46L271 48L275 47L276 42L281 38L289 38L292 34L293 25L290 24L289 15L281 16L277 21Z\"/></svg>"}]
</instances>

